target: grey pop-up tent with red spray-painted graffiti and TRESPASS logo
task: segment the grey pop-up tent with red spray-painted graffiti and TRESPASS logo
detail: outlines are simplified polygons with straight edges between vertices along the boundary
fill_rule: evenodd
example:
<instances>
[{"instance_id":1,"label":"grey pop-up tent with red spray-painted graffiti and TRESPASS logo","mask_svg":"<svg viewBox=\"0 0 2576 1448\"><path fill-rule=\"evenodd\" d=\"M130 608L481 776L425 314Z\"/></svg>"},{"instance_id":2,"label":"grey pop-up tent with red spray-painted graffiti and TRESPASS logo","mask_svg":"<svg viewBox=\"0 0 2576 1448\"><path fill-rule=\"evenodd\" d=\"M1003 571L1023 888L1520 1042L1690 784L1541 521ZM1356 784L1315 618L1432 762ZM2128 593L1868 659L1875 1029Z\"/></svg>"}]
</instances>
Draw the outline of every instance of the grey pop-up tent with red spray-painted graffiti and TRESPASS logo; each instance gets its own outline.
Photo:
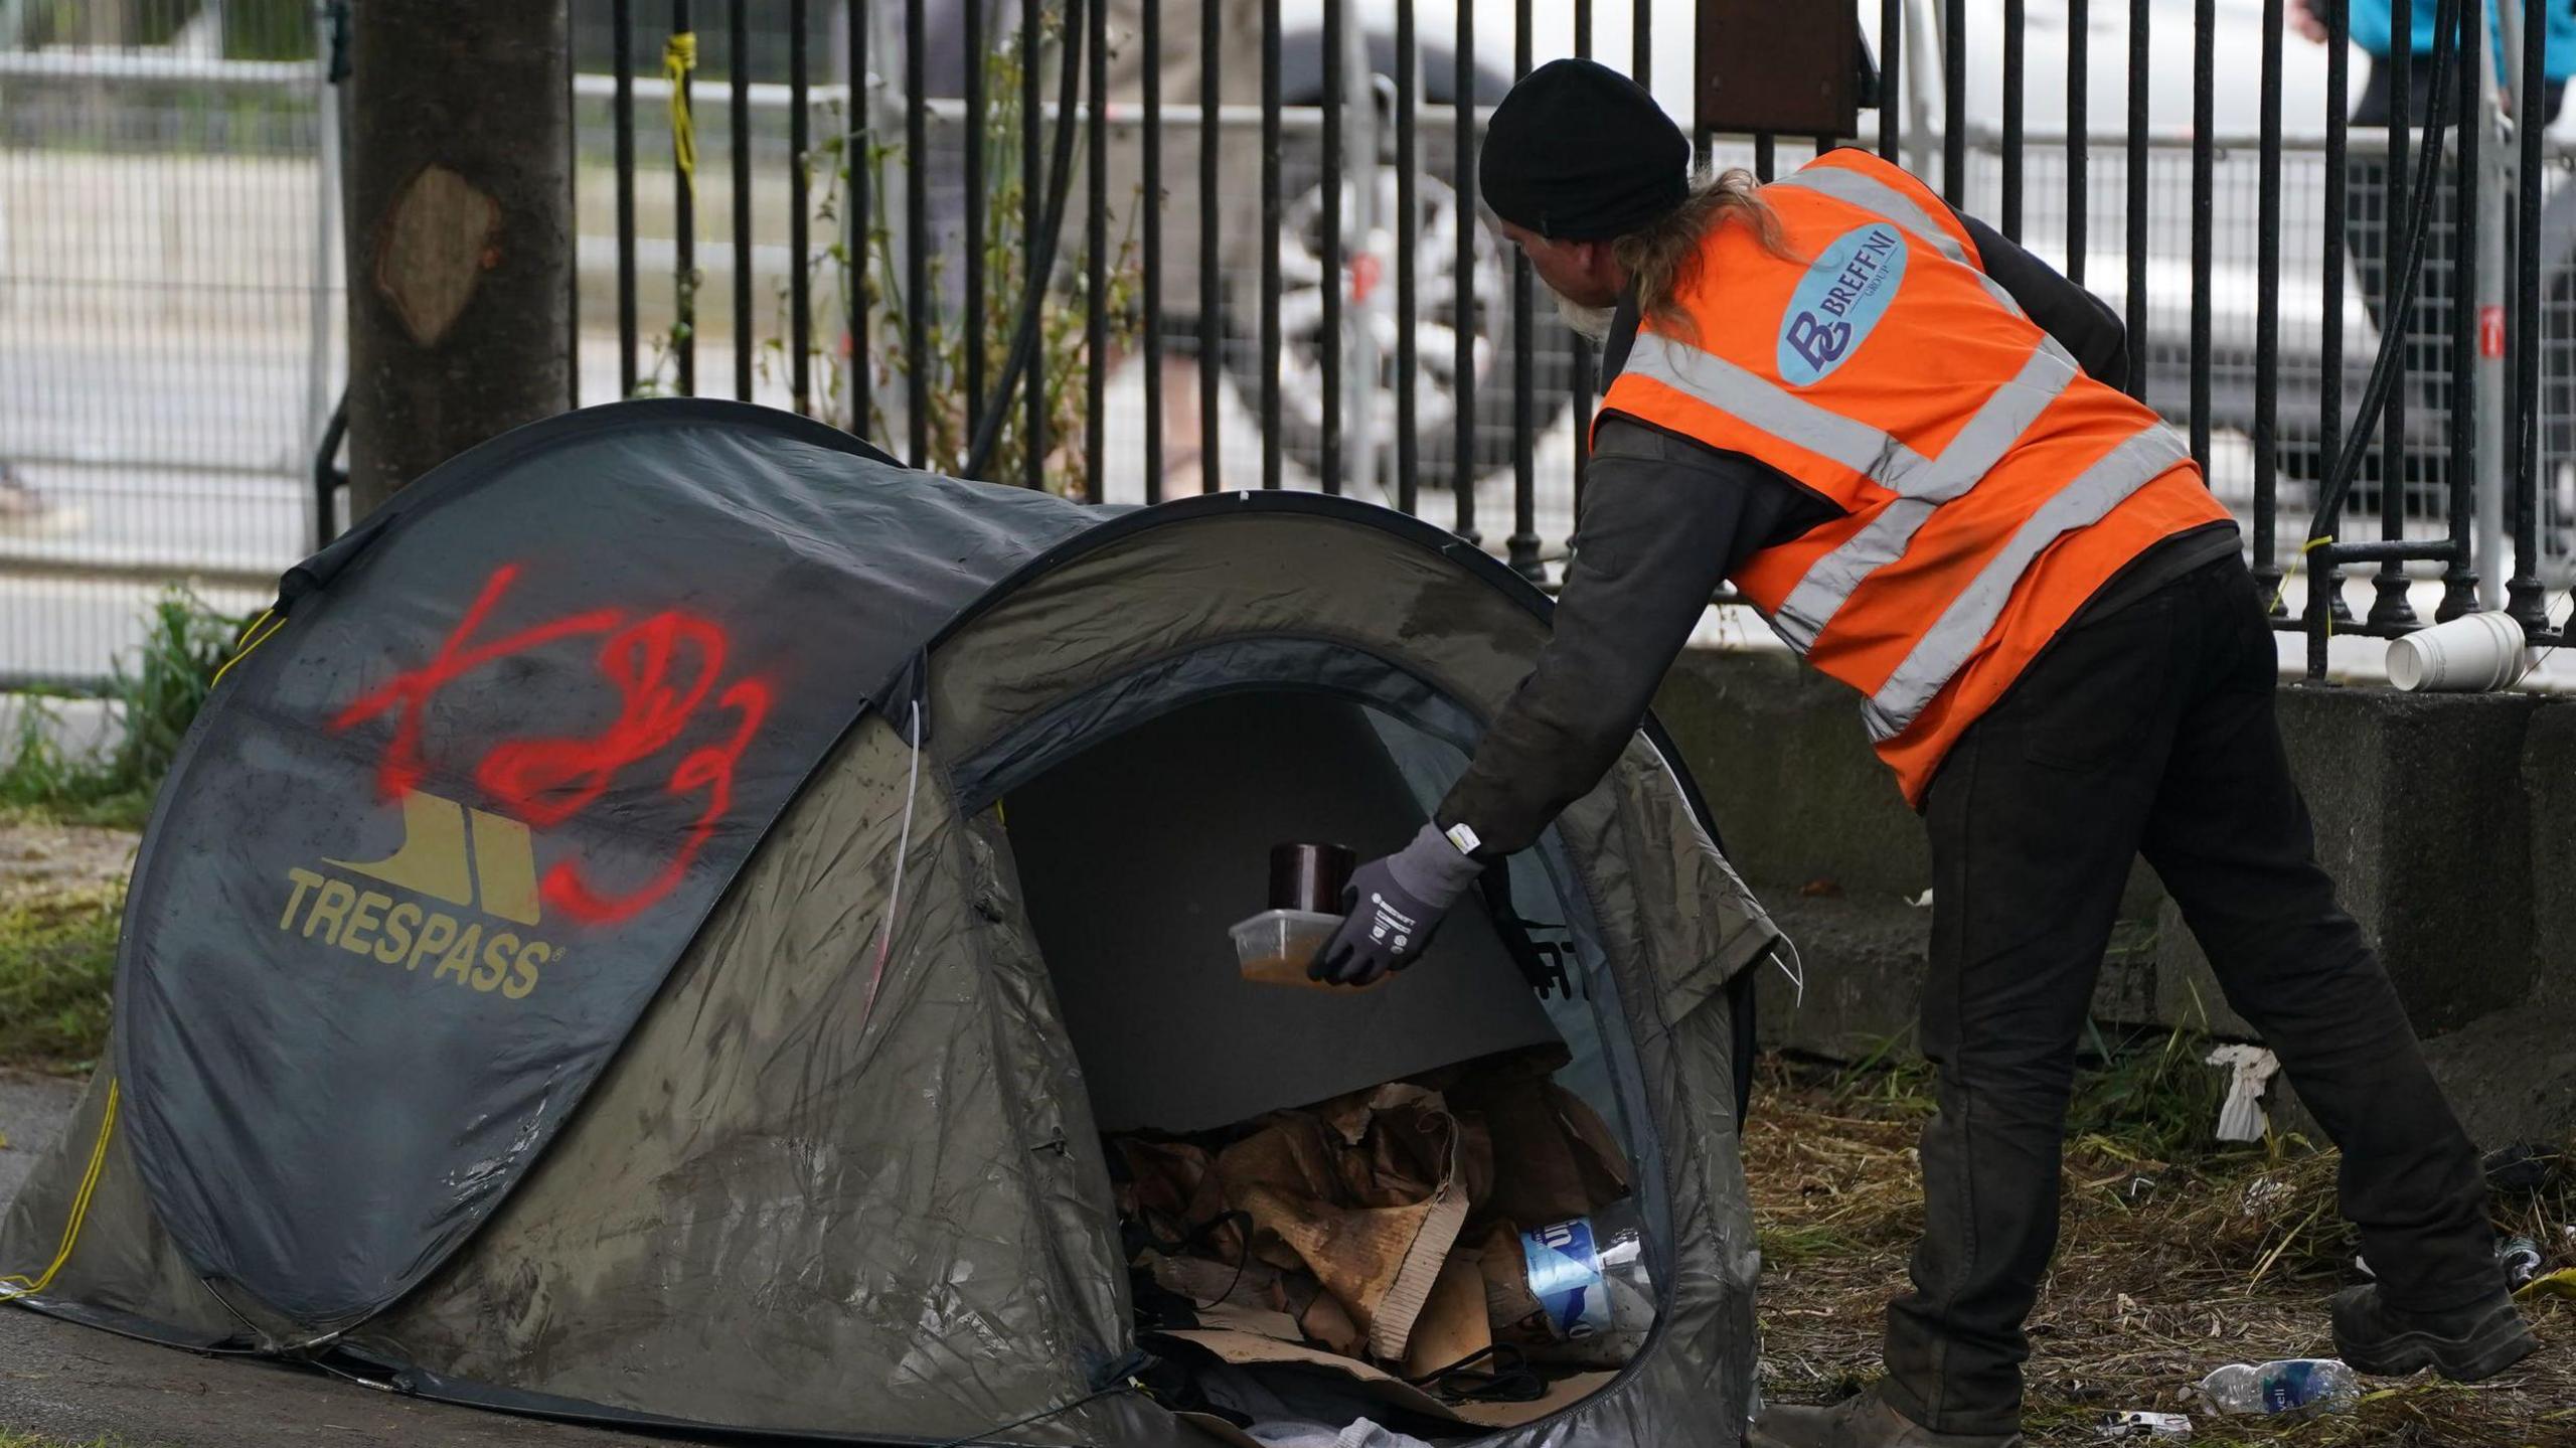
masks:
<instances>
[{"instance_id":1,"label":"grey pop-up tent with red spray-painted graffiti and TRESPASS logo","mask_svg":"<svg viewBox=\"0 0 2576 1448\"><path fill-rule=\"evenodd\" d=\"M1492 1443L1736 1443L1775 935L1651 727L1515 861L1525 940L1463 910L1378 992L1236 974L1267 848L1401 843L1543 644L1455 538L629 402L446 464L258 639L162 788L0 1296L526 1412L1193 1443L1103 1391L1139 1335L1100 1129L1556 1038L1662 1314Z\"/></svg>"}]
</instances>

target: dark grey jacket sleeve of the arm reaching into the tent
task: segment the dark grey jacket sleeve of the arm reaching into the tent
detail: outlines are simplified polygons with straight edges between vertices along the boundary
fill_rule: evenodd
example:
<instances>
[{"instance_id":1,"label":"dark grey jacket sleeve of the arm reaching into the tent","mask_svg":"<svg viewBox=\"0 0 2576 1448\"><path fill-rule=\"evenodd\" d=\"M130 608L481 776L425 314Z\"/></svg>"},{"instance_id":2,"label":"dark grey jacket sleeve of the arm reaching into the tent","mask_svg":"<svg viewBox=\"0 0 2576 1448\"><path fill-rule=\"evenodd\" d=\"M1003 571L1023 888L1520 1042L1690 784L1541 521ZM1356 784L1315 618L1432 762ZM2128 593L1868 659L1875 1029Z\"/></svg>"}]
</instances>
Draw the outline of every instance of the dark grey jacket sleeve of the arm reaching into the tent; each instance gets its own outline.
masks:
<instances>
[{"instance_id":1,"label":"dark grey jacket sleeve of the arm reaching into the tent","mask_svg":"<svg viewBox=\"0 0 2576 1448\"><path fill-rule=\"evenodd\" d=\"M1538 840L1610 773L1718 582L1832 515L1754 459L1607 417L1584 474L1556 636L1440 804L1440 827L1476 830L1479 855Z\"/></svg>"}]
</instances>

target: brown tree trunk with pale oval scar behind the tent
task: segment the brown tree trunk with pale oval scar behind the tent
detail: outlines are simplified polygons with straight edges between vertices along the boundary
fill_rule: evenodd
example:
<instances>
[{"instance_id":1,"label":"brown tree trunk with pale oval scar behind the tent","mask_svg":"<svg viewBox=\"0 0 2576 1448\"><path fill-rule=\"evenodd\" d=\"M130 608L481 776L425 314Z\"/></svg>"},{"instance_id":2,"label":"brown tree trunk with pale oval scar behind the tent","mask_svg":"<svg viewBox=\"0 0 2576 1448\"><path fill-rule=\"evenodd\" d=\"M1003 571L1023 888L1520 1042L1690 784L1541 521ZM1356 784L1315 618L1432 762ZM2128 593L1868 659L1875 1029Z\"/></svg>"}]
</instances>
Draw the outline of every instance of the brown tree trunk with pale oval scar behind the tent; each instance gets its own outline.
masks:
<instances>
[{"instance_id":1,"label":"brown tree trunk with pale oval scar behind the tent","mask_svg":"<svg viewBox=\"0 0 2576 1448\"><path fill-rule=\"evenodd\" d=\"M350 515L572 407L564 0L368 0L348 100Z\"/></svg>"}]
</instances>

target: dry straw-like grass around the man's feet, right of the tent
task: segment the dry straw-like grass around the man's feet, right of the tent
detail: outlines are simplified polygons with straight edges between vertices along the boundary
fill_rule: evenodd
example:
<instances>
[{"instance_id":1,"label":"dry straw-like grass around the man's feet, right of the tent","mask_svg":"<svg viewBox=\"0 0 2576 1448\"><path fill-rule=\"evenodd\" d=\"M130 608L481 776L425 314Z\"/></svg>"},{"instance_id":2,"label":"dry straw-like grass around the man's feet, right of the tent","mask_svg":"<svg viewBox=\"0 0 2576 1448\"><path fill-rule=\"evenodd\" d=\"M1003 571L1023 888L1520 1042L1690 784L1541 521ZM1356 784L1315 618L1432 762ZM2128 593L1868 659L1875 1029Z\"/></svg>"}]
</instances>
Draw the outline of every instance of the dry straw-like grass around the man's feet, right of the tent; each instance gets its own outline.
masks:
<instances>
[{"instance_id":1,"label":"dry straw-like grass around the man's feet, right of the tent","mask_svg":"<svg viewBox=\"0 0 2576 1448\"><path fill-rule=\"evenodd\" d=\"M2063 1237L2030 1317L2032 1445L2099 1445L2112 1409L2187 1412L2195 1448L2447 1448L2576 1443L2576 1301L2527 1301L2548 1342L2476 1386L2365 1378L2357 1412L2275 1422L2218 1417L2192 1399L2223 1363L2334 1355L2326 1296L2360 1281L2357 1239L2334 1206L2339 1157L2298 1136L2210 1141L2223 1077L2195 1033L2094 1038L2069 1110ZM1762 1391L1832 1402L1875 1378L1891 1296L1922 1232L1914 1144L1937 1082L1901 1043L1868 1069L1785 1059L1744 1131L1762 1242ZM2568 1157L2496 1188L2499 1232L2576 1265Z\"/></svg>"}]
</instances>

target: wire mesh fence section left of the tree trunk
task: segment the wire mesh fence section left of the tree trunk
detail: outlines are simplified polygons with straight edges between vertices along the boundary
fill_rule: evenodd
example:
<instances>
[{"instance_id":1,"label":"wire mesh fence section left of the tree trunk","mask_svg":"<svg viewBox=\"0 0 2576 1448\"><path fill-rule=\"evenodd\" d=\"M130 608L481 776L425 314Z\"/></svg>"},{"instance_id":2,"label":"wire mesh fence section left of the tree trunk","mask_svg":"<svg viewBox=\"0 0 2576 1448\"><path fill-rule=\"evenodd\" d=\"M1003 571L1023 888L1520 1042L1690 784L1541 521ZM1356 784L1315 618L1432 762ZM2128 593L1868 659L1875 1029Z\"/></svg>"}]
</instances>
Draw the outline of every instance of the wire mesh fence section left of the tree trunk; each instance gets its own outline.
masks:
<instances>
[{"instance_id":1,"label":"wire mesh fence section left of the tree trunk","mask_svg":"<svg viewBox=\"0 0 2576 1448\"><path fill-rule=\"evenodd\" d=\"M309 23L263 15L70 5L0 46L10 683L95 685L160 590L237 611L312 544L337 222Z\"/></svg>"}]
</instances>

